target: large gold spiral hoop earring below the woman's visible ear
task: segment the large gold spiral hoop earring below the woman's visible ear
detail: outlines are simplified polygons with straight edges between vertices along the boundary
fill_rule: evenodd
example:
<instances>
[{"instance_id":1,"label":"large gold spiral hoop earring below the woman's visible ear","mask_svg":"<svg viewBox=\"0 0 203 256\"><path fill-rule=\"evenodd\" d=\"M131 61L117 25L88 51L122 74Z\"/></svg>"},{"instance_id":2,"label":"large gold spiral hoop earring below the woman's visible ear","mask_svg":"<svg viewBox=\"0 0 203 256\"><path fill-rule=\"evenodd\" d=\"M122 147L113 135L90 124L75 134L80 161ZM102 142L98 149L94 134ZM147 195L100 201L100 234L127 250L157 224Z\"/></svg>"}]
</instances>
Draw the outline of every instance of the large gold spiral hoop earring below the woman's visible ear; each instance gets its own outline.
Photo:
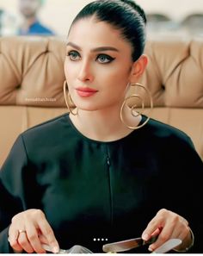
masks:
<instances>
[{"instance_id":1,"label":"large gold spiral hoop earring below the woman's visible ear","mask_svg":"<svg viewBox=\"0 0 203 256\"><path fill-rule=\"evenodd\" d=\"M151 92L143 85L143 84L131 84L131 86L138 86L139 88L143 89L145 92L146 92L146 95L147 97L149 98L150 100L150 109L152 110L153 109L153 101L152 101L152 97L151 97ZM132 99L132 97L136 97L138 98L140 101L141 101L141 111L136 111L136 114L134 113L134 110L136 109L137 105L136 103L132 104L132 106L130 107L131 108L131 115L133 117L137 117L137 116L142 116L142 113L145 109L145 102L144 102L144 98L143 97L140 97L138 94L132 94L131 96L129 97L126 97L126 99L124 100L124 102L122 103L121 105L121 108L120 108L120 120L121 122L123 122L123 124L126 125L127 128L130 128L130 129L133 129L133 130L136 130L138 128L142 128L145 126L145 124L150 120L150 116L147 116L147 119L145 120L145 122L143 122L142 124L136 126L136 127L132 127L132 126L129 126L126 124L126 122L124 121L124 118L123 118L123 109L125 107L125 105L127 104L127 102Z\"/></svg>"}]
</instances>

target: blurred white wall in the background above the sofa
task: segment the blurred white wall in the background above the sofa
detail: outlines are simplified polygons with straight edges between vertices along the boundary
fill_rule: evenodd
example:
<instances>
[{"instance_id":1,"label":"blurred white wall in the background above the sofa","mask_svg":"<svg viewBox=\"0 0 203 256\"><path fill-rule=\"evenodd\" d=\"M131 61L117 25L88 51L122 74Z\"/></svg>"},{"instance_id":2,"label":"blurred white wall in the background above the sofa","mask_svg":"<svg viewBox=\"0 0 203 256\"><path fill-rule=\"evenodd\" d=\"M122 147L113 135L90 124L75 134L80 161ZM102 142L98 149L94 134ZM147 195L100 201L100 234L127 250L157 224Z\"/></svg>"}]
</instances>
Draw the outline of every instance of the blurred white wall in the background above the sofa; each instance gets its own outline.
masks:
<instances>
[{"instance_id":1,"label":"blurred white wall in the background above the sofa","mask_svg":"<svg viewBox=\"0 0 203 256\"><path fill-rule=\"evenodd\" d=\"M67 34L71 21L79 9L91 0L46 0L40 10L40 19L58 34ZM15 25L21 22L18 0L0 0L0 8L15 17ZM163 12L176 21L193 12L203 13L203 0L137 0L146 12Z\"/></svg>"}]
</instances>

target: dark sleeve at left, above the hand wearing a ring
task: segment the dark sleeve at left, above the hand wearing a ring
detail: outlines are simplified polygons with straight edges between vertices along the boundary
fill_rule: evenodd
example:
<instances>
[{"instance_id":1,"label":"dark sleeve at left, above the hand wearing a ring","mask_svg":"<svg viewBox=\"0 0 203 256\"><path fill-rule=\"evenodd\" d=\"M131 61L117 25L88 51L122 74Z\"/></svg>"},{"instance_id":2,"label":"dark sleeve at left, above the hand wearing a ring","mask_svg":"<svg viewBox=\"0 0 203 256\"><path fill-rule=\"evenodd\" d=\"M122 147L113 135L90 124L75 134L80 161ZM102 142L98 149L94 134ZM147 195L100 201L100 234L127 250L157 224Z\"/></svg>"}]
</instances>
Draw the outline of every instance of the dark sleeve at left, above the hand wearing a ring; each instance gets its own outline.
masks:
<instances>
[{"instance_id":1,"label":"dark sleeve at left, above the hand wearing a ring","mask_svg":"<svg viewBox=\"0 0 203 256\"><path fill-rule=\"evenodd\" d=\"M23 172L27 155L19 136L0 171L0 253L9 253L8 231L12 217L23 210Z\"/></svg>"}]
</instances>

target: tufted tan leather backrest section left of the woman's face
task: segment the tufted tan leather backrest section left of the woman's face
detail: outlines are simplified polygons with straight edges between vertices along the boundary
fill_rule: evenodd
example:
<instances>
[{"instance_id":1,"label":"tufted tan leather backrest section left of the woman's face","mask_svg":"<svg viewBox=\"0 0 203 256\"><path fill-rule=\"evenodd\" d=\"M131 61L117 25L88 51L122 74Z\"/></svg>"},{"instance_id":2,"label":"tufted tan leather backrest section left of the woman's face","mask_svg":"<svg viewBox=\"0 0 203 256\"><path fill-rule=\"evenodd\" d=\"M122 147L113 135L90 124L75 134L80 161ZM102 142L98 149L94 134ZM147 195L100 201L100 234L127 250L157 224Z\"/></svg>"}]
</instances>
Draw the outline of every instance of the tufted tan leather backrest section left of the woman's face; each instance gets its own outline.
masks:
<instances>
[{"instance_id":1,"label":"tufted tan leather backrest section left of the woman's face","mask_svg":"<svg viewBox=\"0 0 203 256\"><path fill-rule=\"evenodd\" d=\"M63 106L63 42L55 38L8 37L0 43L0 104Z\"/></svg>"}]
</instances>

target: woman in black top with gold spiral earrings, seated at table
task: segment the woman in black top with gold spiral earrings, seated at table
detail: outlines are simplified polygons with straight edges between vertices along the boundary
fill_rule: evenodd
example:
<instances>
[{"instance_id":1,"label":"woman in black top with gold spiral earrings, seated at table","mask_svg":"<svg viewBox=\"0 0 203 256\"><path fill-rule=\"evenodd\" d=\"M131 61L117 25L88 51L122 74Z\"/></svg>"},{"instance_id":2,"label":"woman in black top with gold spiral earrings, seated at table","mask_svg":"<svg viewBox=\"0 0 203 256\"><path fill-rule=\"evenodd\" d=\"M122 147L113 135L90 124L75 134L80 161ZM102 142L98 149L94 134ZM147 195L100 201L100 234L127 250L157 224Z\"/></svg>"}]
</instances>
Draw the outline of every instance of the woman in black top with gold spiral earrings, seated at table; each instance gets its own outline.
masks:
<instances>
[{"instance_id":1,"label":"woman in black top with gold spiral earrings, seated at table","mask_svg":"<svg viewBox=\"0 0 203 256\"><path fill-rule=\"evenodd\" d=\"M123 104L147 65L145 22L131 0L89 3L73 21L65 77L76 108L15 141L1 170L2 252L102 253L107 241L158 235L134 252L179 238L178 252L202 253L203 163L191 140Z\"/></svg>"}]
</instances>

